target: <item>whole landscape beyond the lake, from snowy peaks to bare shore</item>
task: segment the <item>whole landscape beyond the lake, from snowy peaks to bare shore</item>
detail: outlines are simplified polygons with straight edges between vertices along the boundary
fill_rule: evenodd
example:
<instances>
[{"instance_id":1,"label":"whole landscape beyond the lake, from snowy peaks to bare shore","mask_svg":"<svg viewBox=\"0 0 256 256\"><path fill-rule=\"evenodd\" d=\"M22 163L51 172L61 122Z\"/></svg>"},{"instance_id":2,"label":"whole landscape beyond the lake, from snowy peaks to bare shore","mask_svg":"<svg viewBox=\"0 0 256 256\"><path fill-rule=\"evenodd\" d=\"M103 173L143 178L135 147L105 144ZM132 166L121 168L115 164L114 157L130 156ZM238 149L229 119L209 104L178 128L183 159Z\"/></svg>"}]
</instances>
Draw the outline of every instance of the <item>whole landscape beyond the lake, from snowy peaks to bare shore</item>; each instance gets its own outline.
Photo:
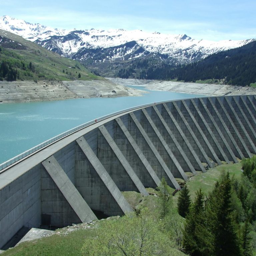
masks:
<instances>
[{"instance_id":1,"label":"whole landscape beyond the lake, from snowy peaks to bare shore","mask_svg":"<svg viewBox=\"0 0 256 256\"><path fill-rule=\"evenodd\" d=\"M255 82L255 42L197 41L187 35L141 30L58 30L3 16L0 103L141 96L146 92L130 85L207 96L255 94L255 88L246 86ZM242 57L240 66L244 68L236 72L236 78L234 70ZM231 73L232 80L227 75ZM207 80L208 76L214 79Z\"/></svg>"}]
</instances>

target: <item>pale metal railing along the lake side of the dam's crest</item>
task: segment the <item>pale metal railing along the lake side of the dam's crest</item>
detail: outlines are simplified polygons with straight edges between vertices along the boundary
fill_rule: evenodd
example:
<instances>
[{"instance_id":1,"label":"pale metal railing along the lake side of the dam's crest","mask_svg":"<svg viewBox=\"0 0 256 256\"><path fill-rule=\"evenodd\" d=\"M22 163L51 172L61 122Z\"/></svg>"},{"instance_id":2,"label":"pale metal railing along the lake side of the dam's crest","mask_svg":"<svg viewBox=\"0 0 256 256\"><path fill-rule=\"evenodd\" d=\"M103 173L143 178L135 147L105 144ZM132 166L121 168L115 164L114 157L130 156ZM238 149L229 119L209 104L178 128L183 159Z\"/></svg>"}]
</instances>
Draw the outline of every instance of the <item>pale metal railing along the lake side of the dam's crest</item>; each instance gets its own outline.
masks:
<instances>
[{"instance_id":1,"label":"pale metal railing along the lake side of the dam's crest","mask_svg":"<svg viewBox=\"0 0 256 256\"><path fill-rule=\"evenodd\" d=\"M24 157L26 157L26 156L36 152L37 150L39 150L39 149L41 149L41 148L43 148L43 147L53 143L54 141L57 141L57 140L65 137L67 135L70 135L71 133L74 133L74 132L76 132L76 131L78 131L80 129L83 129L83 128L89 126L89 125L92 125L92 124L94 124L96 122L99 122L99 121L102 121L104 119L107 119L109 117L112 117L112 116L115 116L115 115L118 115L118 114L121 114L121 113L125 113L127 111L135 110L135 109L138 109L138 108L152 106L152 105L155 105L155 104L161 104L161 103L170 102L170 101L177 101L177 100L197 99L197 98L198 97L191 97L191 98L182 98L182 99L166 100L166 101L159 101L159 102L154 102L154 103L148 103L148 104L127 108L127 109L124 109L124 110L120 110L120 111L117 111L117 112L114 112L114 113L111 113L111 114L99 117L99 118L94 119L92 121L89 121L87 123L84 123L84 124L81 124L79 126L76 126L76 127L72 128L72 129L66 131L66 132L63 132L63 133L61 133L61 134L59 134L59 135L57 135L57 136L55 136L55 137L53 137L53 138L51 138L49 140L46 140L46 141L40 143L39 145L37 145L37 146L35 146L33 148L31 148L31 149L29 149L29 150L27 150L27 151L25 151L25 152L15 156L15 157L13 157L13 158L11 158L10 160L0 164L0 171L3 170L4 168L10 166L11 164L16 163L17 161L21 160L22 158L24 158ZM200 98L203 98L203 97L200 97Z\"/></svg>"}]
</instances>

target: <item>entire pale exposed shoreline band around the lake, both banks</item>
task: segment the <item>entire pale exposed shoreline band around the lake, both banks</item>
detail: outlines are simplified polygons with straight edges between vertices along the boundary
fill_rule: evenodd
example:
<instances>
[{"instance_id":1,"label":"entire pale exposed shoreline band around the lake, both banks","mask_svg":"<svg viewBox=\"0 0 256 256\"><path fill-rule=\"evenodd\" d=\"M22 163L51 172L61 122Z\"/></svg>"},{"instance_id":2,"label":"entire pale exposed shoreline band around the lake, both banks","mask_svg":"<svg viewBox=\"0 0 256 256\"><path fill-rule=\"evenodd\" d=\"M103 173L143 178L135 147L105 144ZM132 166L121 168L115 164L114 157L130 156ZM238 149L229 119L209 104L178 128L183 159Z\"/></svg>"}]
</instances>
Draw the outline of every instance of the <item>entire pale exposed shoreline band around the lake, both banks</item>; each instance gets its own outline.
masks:
<instances>
[{"instance_id":1,"label":"entire pale exposed shoreline band around the lake, both banks","mask_svg":"<svg viewBox=\"0 0 256 256\"><path fill-rule=\"evenodd\" d=\"M142 96L147 93L128 87L131 85L143 86L148 90L205 96L256 94L256 88L252 87L122 78L93 81L0 81L0 103Z\"/></svg>"}]
</instances>

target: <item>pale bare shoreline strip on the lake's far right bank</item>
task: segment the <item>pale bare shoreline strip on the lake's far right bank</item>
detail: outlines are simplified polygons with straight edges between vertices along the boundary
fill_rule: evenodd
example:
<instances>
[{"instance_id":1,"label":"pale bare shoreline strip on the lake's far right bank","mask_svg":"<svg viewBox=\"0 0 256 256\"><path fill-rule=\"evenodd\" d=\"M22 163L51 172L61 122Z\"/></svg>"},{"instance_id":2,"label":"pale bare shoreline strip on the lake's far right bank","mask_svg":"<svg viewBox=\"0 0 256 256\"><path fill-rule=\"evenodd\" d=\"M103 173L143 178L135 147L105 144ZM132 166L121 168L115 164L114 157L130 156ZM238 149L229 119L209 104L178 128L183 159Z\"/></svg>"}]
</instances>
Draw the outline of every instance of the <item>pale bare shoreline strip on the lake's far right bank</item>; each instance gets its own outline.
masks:
<instances>
[{"instance_id":1,"label":"pale bare shoreline strip on the lake's far right bank","mask_svg":"<svg viewBox=\"0 0 256 256\"><path fill-rule=\"evenodd\" d=\"M242 87L234 85L221 84L199 84L184 83L160 80L138 80L138 79L122 79L108 78L114 83L120 85L138 85L148 90L154 91L170 91L188 94L201 94L205 96L224 96L224 95L252 95L256 94L256 88Z\"/></svg>"}]
</instances>

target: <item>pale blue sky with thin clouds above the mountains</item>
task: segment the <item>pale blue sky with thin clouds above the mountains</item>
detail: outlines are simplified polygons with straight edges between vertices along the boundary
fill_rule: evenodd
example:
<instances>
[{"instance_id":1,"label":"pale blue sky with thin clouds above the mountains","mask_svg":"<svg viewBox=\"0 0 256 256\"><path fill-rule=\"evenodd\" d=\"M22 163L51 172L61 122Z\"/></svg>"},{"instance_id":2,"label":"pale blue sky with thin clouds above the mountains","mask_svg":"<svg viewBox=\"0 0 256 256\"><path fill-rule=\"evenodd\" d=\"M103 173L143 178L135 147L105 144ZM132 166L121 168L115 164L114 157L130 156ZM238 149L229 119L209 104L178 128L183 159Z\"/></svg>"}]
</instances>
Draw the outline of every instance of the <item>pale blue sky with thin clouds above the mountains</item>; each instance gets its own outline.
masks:
<instances>
[{"instance_id":1,"label":"pale blue sky with thin clouds above the mountains","mask_svg":"<svg viewBox=\"0 0 256 256\"><path fill-rule=\"evenodd\" d=\"M9 0L0 16L66 29L141 29L196 39L256 38L255 0Z\"/></svg>"}]
</instances>

